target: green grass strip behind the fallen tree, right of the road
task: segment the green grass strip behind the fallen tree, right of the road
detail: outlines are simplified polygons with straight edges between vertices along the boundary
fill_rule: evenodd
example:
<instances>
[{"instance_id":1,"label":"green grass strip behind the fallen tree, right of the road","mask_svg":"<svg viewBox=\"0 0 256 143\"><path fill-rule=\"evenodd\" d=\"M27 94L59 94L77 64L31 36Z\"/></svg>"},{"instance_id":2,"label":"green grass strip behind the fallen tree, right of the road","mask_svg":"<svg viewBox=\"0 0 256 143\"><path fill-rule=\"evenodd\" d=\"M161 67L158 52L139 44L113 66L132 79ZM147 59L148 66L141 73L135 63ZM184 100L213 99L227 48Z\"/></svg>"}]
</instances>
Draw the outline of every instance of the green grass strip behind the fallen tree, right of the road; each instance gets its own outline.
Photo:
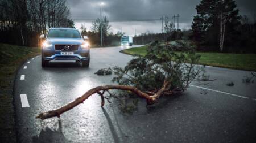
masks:
<instances>
[{"instance_id":1,"label":"green grass strip behind the fallen tree, right of the road","mask_svg":"<svg viewBox=\"0 0 256 143\"><path fill-rule=\"evenodd\" d=\"M121 53L130 55L146 55L147 46L135 47L122 50ZM233 68L238 70L256 71L256 54L227 54L227 53L210 53L198 52L201 55L200 64Z\"/></svg>"}]
</instances>

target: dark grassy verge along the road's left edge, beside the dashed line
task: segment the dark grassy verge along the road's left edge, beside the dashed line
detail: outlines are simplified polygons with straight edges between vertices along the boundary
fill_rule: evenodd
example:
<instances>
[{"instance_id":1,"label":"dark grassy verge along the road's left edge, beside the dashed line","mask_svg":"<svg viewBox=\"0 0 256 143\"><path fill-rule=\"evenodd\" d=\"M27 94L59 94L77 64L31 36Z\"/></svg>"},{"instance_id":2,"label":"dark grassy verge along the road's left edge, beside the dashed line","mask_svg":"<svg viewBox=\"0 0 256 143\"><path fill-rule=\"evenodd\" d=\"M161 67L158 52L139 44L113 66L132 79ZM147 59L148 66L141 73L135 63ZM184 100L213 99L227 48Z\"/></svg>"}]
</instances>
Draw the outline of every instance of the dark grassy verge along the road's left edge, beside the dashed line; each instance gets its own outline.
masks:
<instances>
[{"instance_id":1,"label":"dark grassy verge along the road's left edge, beside the dashed line","mask_svg":"<svg viewBox=\"0 0 256 143\"><path fill-rule=\"evenodd\" d=\"M36 47L0 44L0 140L16 142L13 85L16 71L28 58L40 54Z\"/></svg>"}]
</instances>

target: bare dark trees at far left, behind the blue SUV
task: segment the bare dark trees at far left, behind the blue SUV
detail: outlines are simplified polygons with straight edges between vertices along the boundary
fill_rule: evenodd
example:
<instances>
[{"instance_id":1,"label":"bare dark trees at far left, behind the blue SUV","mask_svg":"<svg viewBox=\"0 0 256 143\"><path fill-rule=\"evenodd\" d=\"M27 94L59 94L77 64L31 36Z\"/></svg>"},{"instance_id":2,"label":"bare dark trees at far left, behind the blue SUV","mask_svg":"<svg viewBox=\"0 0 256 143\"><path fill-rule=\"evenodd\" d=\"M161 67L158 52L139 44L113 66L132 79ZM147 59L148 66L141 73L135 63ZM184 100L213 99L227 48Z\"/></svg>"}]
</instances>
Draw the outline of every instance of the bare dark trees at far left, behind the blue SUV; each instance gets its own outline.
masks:
<instances>
[{"instance_id":1,"label":"bare dark trees at far left, behind the blue SUV","mask_svg":"<svg viewBox=\"0 0 256 143\"><path fill-rule=\"evenodd\" d=\"M51 27L74 27L65 0L0 0L0 42L38 46Z\"/></svg>"}]
</instances>

